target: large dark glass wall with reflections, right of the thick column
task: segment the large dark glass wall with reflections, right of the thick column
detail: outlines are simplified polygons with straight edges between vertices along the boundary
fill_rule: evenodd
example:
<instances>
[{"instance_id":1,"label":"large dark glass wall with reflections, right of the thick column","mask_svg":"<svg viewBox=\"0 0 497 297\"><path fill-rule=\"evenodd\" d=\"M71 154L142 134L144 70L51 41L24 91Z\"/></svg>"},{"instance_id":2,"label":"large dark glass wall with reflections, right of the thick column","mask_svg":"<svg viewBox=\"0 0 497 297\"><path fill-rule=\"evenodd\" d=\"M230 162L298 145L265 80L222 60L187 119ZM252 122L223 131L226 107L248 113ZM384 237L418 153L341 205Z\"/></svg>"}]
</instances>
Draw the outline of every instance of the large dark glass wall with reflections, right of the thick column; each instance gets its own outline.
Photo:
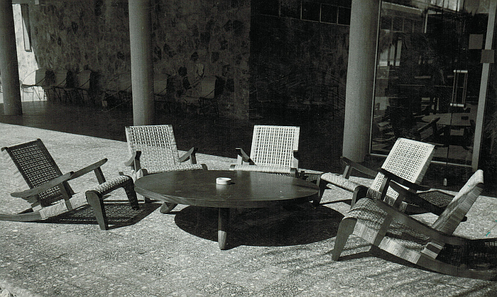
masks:
<instances>
[{"instance_id":1,"label":"large dark glass wall with reflections, right of the thick column","mask_svg":"<svg viewBox=\"0 0 497 297\"><path fill-rule=\"evenodd\" d=\"M411 138L471 166L489 2L382 1L372 154Z\"/></svg>"}]
</instances>

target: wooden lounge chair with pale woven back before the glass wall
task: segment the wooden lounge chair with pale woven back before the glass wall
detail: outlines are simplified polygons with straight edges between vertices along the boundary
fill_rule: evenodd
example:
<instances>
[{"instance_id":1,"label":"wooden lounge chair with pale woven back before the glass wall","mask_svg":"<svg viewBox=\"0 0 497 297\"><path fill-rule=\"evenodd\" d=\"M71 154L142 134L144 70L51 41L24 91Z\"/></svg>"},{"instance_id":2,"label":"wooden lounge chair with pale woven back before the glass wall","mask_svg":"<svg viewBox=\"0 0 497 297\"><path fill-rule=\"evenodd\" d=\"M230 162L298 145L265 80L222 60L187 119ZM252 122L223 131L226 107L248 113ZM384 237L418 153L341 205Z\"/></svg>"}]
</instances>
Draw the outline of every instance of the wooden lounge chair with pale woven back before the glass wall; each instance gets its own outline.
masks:
<instances>
[{"instance_id":1,"label":"wooden lounge chair with pale woven back before the glass wall","mask_svg":"<svg viewBox=\"0 0 497 297\"><path fill-rule=\"evenodd\" d=\"M409 183L411 191L425 191L424 193L420 193L422 200L406 201L405 211L407 213L425 213L430 211L435 214L440 214L444 210L444 207L452 201L453 196L449 194L444 194L439 191L427 191L430 188L420 186L434 154L435 145L406 138L398 138L393 145L392 150L386 157L385 162L383 162L383 165L381 166L382 169L386 169L388 172L403 178L404 184ZM351 201L352 207L354 206L354 203L356 203L358 197L364 197L368 192L370 194L377 193L385 179L384 174L368 169L345 157L342 157L342 160L346 163L342 175L325 173L318 179L318 185L321 188L320 195L323 194L324 189L327 189L329 184L339 186L342 189L353 192ZM368 176L375 176L375 179L369 186L351 181L349 176L353 169L367 174ZM373 189L374 191L368 191L368 189ZM390 200L395 200L398 193L389 189L387 195Z\"/></svg>"}]
</instances>

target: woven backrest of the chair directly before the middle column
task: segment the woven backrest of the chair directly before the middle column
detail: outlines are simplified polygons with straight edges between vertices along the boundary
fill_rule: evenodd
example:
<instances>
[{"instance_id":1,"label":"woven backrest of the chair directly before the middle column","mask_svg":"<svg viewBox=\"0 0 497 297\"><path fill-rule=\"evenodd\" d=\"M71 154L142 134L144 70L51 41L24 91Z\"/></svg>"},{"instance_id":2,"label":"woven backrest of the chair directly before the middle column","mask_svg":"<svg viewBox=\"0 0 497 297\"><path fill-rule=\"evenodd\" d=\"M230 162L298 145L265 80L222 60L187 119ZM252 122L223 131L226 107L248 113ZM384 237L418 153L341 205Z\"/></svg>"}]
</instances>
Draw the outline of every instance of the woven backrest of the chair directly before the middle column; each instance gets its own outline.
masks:
<instances>
[{"instance_id":1,"label":"woven backrest of the chair directly before the middle column","mask_svg":"<svg viewBox=\"0 0 497 297\"><path fill-rule=\"evenodd\" d=\"M141 167L148 172L161 172L180 164L180 155L173 125L141 125L126 127L129 153L141 151Z\"/></svg>"}]
</instances>

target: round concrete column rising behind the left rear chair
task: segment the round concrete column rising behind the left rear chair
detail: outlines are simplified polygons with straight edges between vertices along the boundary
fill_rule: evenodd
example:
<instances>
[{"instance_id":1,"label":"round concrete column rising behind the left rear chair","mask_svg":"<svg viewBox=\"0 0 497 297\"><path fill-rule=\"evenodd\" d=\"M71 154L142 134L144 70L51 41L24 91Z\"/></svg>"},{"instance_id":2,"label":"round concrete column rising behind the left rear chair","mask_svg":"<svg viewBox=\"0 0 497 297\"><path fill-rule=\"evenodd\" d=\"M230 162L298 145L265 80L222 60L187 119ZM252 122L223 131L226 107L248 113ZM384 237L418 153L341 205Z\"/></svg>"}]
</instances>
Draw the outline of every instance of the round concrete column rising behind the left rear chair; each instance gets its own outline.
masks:
<instances>
[{"instance_id":1,"label":"round concrete column rising behind the left rear chair","mask_svg":"<svg viewBox=\"0 0 497 297\"><path fill-rule=\"evenodd\" d=\"M152 20L150 0L129 0L133 125L153 125Z\"/></svg>"}]
</instances>

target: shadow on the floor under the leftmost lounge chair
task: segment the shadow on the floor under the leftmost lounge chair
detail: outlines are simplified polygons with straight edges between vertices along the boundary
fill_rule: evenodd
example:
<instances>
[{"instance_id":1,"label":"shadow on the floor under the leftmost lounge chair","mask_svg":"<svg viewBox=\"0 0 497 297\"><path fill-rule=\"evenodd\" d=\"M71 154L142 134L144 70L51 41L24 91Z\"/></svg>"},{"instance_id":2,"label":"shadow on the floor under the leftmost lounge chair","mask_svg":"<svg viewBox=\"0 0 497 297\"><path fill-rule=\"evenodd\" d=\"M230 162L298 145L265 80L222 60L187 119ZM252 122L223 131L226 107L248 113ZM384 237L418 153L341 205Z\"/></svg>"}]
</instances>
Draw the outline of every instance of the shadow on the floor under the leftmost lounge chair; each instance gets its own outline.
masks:
<instances>
[{"instance_id":1,"label":"shadow on the floor under the leftmost lounge chair","mask_svg":"<svg viewBox=\"0 0 497 297\"><path fill-rule=\"evenodd\" d=\"M111 230L138 223L140 220L143 220L143 218L146 218L147 215L150 215L153 211L159 208L160 204L140 203L140 209L135 211L129 206L129 201L111 200L106 201L104 207L109 223L109 230ZM95 218L91 206L83 206L75 211L70 211L47 220L38 220L35 222L51 224L98 225L97 218Z\"/></svg>"}]
</instances>

